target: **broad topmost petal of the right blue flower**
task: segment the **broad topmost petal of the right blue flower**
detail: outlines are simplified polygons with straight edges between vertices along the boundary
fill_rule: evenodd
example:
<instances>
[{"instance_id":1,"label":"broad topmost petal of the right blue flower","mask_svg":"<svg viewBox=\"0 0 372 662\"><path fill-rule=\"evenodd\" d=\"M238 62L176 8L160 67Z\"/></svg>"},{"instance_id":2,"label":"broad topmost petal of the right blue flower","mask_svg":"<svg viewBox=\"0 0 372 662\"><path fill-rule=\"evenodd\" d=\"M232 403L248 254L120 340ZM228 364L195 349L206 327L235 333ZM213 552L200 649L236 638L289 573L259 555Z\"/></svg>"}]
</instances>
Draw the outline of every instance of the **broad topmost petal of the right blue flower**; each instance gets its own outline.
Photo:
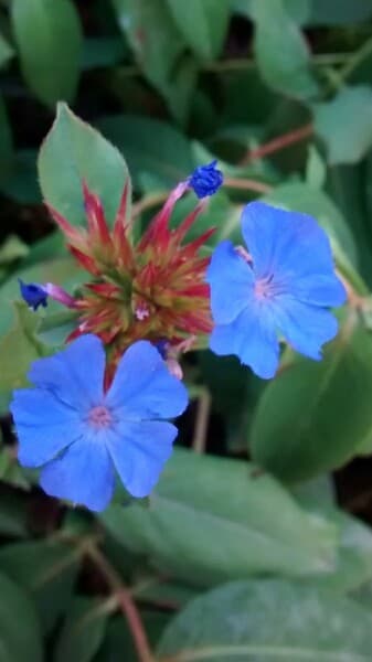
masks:
<instances>
[{"instance_id":1,"label":"broad topmost petal of the right blue flower","mask_svg":"<svg viewBox=\"0 0 372 662\"><path fill-rule=\"evenodd\" d=\"M329 239L311 216L252 202L243 211L242 231L258 278L275 274L290 282L333 274Z\"/></svg>"}]
</instances>

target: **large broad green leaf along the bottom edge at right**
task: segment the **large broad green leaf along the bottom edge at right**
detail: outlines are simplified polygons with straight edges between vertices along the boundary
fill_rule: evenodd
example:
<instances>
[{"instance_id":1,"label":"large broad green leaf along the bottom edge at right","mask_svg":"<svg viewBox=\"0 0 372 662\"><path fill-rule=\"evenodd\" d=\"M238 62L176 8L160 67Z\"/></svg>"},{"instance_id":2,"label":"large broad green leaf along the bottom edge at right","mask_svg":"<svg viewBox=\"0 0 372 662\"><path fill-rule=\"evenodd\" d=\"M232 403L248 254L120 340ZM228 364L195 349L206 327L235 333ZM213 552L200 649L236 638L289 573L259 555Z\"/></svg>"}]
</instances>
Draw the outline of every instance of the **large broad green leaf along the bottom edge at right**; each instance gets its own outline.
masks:
<instances>
[{"instance_id":1,"label":"large broad green leaf along the bottom edge at right","mask_svg":"<svg viewBox=\"0 0 372 662\"><path fill-rule=\"evenodd\" d=\"M235 581L189 602L157 652L180 662L368 662L371 628L371 613L332 592Z\"/></svg>"}]
</instances>

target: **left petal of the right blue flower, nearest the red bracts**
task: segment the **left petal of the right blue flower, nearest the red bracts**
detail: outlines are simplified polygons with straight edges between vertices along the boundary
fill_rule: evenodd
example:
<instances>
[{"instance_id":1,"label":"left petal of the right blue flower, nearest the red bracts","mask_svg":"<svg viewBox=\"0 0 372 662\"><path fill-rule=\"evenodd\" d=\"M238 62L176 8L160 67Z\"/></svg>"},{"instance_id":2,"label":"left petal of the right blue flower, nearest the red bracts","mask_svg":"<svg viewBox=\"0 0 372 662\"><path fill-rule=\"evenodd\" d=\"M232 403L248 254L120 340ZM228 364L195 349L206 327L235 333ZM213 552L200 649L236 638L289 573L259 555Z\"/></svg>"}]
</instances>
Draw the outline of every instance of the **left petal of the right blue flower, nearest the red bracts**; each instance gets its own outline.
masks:
<instances>
[{"instance_id":1,"label":"left petal of the right blue flower, nearest the red bracts","mask_svg":"<svg viewBox=\"0 0 372 662\"><path fill-rule=\"evenodd\" d=\"M206 281L211 286L214 321L217 324L232 322L247 305L253 292L254 276L231 242L222 242L214 250Z\"/></svg>"}]
</instances>

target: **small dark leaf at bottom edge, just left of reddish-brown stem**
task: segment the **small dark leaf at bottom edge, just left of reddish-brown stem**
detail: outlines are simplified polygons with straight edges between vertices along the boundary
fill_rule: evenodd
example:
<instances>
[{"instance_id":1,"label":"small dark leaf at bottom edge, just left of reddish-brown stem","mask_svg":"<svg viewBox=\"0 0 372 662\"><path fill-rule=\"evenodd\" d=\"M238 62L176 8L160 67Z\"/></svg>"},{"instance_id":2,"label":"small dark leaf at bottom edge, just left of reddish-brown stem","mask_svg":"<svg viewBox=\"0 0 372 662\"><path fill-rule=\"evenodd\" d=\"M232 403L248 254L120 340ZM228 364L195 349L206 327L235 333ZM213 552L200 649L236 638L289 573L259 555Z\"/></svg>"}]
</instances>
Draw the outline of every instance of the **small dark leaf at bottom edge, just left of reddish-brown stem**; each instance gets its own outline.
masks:
<instances>
[{"instance_id":1,"label":"small dark leaf at bottom edge, just left of reddish-brown stem","mask_svg":"<svg viewBox=\"0 0 372 662\"><path fill-rule=\"evenodd\" d=\"M113 605L76 597L56 642L53 662L91 662L102 644Z\"/></svg>"}]
</instances>

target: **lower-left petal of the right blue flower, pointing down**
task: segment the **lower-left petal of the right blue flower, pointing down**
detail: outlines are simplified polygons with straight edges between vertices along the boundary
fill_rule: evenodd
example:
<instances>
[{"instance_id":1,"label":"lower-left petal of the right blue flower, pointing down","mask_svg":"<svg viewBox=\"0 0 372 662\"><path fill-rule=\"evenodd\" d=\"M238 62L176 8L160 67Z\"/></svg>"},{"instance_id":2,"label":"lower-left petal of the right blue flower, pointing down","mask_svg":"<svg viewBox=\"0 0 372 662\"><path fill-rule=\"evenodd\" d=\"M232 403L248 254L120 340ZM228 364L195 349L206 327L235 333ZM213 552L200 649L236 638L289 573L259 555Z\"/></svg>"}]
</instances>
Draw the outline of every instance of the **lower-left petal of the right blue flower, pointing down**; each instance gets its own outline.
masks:
<instances>
[{"instance_id":1,"label":"lower-left petal of the right blue flower, pointing down","mask_svg":"<svg viewBox=\"0 0 372 662\"><path fill-rule=\"evenodd\" d=\"M264 380L274 377L278 367L279 344L266 307L252 305L231 324L215 327L210 348L220 356L235 354Z\"/></svg>"}]
</instances>

